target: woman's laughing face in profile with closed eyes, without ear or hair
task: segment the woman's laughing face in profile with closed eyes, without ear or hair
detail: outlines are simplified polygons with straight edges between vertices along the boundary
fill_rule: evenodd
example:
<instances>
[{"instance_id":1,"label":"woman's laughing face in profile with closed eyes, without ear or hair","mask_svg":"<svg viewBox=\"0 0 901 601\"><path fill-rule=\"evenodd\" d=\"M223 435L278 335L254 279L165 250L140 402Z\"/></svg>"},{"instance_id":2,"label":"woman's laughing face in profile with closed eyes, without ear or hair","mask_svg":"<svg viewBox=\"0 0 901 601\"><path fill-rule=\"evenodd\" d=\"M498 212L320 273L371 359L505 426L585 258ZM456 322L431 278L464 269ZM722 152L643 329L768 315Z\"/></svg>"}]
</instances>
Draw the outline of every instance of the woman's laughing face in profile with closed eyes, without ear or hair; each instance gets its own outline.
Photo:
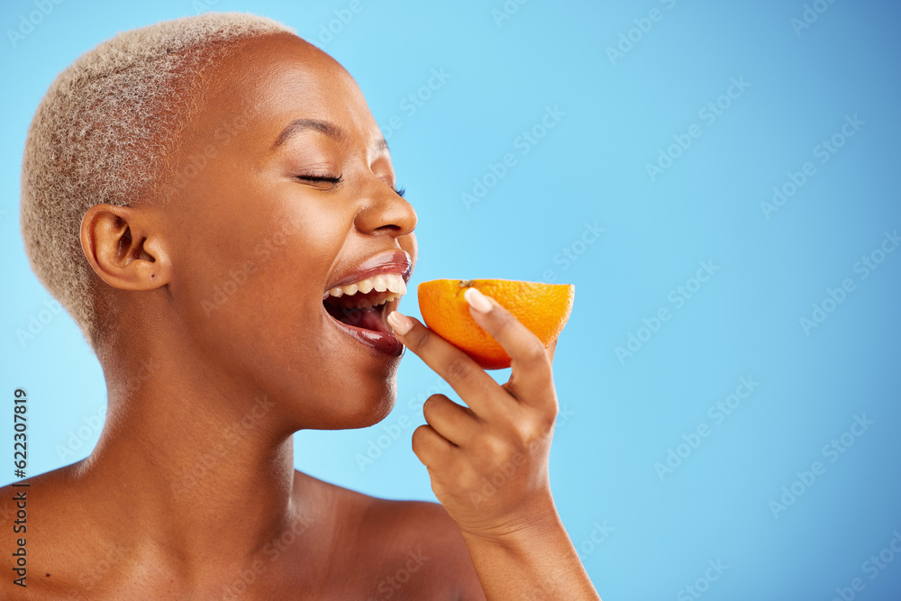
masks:
<instances>
[{"instance_id":1,"label":"woman's laughing face in profile with closed eyes, without ear or hair","mask_svg":"<svg viewBox=\"0 0 901 601\"><path fill-rule=\"evenodd\" d=\"M344 305L395 296L354 283L397 289L416 259L378 125L338 63L284 34L250 42L205 89L159 211L185 344L214 386L267 395L289 427L376 423L396 395L403 347L384 318L399 298Z\"/></svg>"}]
</instances>

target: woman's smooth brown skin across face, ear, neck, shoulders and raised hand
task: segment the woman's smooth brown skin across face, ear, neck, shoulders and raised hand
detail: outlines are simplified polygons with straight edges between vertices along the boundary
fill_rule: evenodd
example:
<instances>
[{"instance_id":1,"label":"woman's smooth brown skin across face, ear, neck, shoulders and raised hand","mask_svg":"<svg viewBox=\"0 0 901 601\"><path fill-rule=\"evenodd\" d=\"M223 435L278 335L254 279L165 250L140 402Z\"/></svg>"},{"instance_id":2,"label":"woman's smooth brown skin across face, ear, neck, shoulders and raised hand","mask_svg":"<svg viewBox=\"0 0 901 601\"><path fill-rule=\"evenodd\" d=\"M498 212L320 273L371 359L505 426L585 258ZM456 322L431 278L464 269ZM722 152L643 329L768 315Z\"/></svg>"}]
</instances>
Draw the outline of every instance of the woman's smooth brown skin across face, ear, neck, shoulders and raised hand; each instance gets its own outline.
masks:
<instances>
[{"instance_id":1,"label":"woman's smooth brown skin across face, ear, neck, shoulders and raised hand","mask_svg":"<svg viewBox=\"0 0 901 601\"><path fill-rule=\"evenodd\" d=\"M399 336L471 407L432 396L414 434L447 511L293 468L291 434L377 423L394 403L399 360L341 332L322 295L378 252L415 259L416 215L359 88L320 50L259 38L204 89L178 164L214 151L177 197L85 216L115 326L97 349L107 419L86 460L28 480L28 587L4 552L0 597L597 598L551 498L551 356L499 306L476 318L514 358L504 387L420 323ZM273 149L298 118L344 137L308 129ZM516 453L473 507L481 478ZM0 490L4 549L14 490Z\"/></svg>"}]
</instances>

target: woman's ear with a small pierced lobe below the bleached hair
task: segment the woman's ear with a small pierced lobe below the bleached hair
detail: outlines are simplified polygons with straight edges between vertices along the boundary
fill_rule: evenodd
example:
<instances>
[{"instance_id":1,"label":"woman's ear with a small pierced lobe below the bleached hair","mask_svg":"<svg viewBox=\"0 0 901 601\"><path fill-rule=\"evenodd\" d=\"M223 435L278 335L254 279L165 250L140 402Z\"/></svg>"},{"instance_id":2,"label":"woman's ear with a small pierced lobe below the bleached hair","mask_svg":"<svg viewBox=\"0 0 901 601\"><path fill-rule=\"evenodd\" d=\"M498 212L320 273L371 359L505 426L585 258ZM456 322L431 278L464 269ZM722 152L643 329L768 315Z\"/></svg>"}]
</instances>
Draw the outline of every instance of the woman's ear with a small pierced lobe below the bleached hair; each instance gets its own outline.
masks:
<instances>
[{"instance_id":1,"label":"woman's ear with a small pierced lobe below the bleached hair","mask_svg":"<svg viewBox=\"0 0 901 601\"><path fill-rule=\"evenodd\" d=\"M94 205L81 220L81 248L100 278L114 288L165 286L171 264L147 207Z\"/></svg>"}]
</instances>

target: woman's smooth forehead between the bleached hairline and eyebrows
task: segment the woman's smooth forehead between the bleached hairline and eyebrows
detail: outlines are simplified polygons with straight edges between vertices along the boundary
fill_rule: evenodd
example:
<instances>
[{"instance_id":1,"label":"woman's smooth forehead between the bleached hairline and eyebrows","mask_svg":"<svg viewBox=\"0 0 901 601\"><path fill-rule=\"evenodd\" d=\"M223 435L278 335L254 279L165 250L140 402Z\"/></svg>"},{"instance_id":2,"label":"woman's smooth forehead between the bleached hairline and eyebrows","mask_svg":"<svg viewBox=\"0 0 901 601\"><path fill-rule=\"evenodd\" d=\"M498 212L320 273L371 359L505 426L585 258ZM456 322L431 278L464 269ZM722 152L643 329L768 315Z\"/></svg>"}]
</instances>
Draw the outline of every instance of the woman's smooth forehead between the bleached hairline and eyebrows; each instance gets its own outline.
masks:
<instances>
[{"instance_id":1,"label":"woman's smooth forehead between the bleached hairline and eyebrows","mask_svg":"<svg viewBox=\"0 0 901 601\"><path fill-rule=\"evenodd\" d=\"M242 142L256 145L266 138L271 145L288 123L314 119L333 123L364 146L381 137L350 74L294 35L243 43L201 85L205 99L196 123L207 135L232 123L234 133L246 130L248 139Z\"/></svg>"}]
</instances>

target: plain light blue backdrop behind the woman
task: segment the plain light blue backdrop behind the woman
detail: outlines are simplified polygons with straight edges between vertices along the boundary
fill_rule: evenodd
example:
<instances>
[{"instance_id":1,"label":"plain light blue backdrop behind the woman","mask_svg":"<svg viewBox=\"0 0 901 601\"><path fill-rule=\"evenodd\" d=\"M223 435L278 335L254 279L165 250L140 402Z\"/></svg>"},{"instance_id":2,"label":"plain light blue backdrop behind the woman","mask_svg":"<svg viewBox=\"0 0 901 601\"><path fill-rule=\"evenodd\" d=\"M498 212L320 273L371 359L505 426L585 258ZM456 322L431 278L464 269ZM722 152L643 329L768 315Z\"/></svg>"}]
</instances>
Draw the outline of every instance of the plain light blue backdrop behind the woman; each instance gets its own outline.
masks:
<instances>
[{"instance_id":1,"label":"plain light blue backdrop behind the woman","mask_svg":"<svg viewBox=\"0 0 901 601\"><path fill-rule=\"evenodd\" d=\"M551 478L605 600L696 598L687 586L711 600L832 599L854 578L863 585L855 598L899 598L901 554L885 551L882 568L865 562L901 532L901 252L878 252L891 246L884 232L901 227L901 7L813 4L822 13L805 23L801 0L511 1L511 14L495 12L502 0L359 0L357 13L342 0L64 2L14 44L8 31L37 9L5 2L0 352L5 394L29 391L30 475L85 457L105 406L94 355L68 315L46 308L23 254L19 172L34 109L61 69L115 32L209 8L251 10L341 61L384 124L420 219L414 285L576 285L555 359L563 410ZM652 9L659 19L642 21ZM621 55L608 50L618 45ZM428 89L432 69L449 77ZM723 96L733 78L747 87ZM701 112L717 102L719 114ZM549 107L557 121L542 130ZM863 122L854 135L815 154L854 115ZM393 116L401 127L388 131ZM686 136L690 146L670 148ZM651 176L661 150L677 158ZM490 177L507 153L514 164ZM808 161L815 174L787 202L761 205L773 187L790 192L789 174ZM593 237L587 223L604 231ZM863 278L859 261L870 255L882 262ZM699 261L715 268L703 283L692 280ZM846 278L853 291L824 303ZM805 328L815 304L831 311ZM418 315L415 305L411 296L401 309ZM657 323L661 308L669 319ZM32 318L37 332L20 340ZM760 384L717 417L711 406L740 400L729 399L740 378ZM297 467L371 495L433 499L410 434L425 396L444 390L408 354L386 421L298 434ZM855 416L871 423L842 442ZM708 435L693 436L699 428ZM833 440L841 453L829 450ZM11 427L0 441L11 452ZM671 471L661 469L668 456ZM819 474L803 474L815 461ZM793 486L802 494L791 505L772 505ZM728 568L719 575L708 561Z\"/></svg>"}]
</instances>

